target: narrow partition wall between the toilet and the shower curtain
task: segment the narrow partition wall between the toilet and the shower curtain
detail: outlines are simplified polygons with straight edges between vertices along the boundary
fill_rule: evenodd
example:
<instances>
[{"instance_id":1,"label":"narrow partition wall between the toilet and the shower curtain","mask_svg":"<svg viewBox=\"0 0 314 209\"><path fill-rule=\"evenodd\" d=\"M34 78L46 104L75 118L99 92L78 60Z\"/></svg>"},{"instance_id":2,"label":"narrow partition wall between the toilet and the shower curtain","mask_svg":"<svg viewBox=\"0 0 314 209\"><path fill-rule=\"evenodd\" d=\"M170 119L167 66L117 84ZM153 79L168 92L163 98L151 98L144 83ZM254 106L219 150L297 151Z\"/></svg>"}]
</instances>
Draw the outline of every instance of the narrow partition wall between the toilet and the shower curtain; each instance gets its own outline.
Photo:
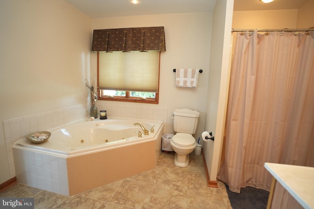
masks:
<instances>
[{"instance_id":1,"label":"narrow partition wall between the toilet and the shower curtain","mask_svg":"<svg viewBox=\"0 0 314 209\"><path fill-rule=\"evenodd\" d=\"M210 53L209 92L205 130L212 132L214 141L204 142L204 154L209 180L216 181L229 87L229 57L233 0L218 0L213 12L212 48ZM210 183L211 184L211 183ZM213 183L215 184L215 183Z\"/></svg>"}]
</instances>

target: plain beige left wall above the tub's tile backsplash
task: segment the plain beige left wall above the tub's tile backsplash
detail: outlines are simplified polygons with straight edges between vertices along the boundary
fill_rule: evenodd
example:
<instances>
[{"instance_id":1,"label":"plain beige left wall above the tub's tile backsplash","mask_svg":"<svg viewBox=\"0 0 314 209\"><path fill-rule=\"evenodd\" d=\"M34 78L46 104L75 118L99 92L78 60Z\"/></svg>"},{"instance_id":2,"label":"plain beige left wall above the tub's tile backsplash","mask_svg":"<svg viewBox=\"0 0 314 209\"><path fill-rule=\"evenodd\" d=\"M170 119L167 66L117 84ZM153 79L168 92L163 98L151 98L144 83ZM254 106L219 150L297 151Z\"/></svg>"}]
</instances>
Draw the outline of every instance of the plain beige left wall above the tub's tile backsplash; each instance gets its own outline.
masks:
<instances>
[{"instance_id":1,"label":"plain beige left wall above the tub's tile backsplash","mask_svg":"<svg viewBox=\"0 0 314 209\"><path fill-rule=\"evenodd\" d=\"M64 0L0 1L0 184L9 180L2 121L86 104L91 18Z\"/></svg>"}]
</instances>

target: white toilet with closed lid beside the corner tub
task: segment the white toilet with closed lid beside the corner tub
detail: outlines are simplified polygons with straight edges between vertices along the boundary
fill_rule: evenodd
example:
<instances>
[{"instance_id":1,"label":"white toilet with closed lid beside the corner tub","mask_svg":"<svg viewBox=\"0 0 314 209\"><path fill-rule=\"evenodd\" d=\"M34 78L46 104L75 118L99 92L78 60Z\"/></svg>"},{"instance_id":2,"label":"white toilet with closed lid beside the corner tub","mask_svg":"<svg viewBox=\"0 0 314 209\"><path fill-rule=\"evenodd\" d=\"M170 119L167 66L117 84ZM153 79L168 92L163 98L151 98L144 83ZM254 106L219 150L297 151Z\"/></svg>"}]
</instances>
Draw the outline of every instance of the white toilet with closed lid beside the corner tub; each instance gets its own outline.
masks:
<instances>
[{"instance_id":1,"label":"white toilet with closed lid beside the corner tub","mask_svg":"<svg viewBox=\"0 0 314 209\"><path fill-rule=\"evenodd\" d=\"M186 167L189 155L196 147L195 134L200 113L190 109L176 109L173 111L173 129L176 134L170 140L172 149L176 152L175 165Z\"/></svg>"}]
</instances>

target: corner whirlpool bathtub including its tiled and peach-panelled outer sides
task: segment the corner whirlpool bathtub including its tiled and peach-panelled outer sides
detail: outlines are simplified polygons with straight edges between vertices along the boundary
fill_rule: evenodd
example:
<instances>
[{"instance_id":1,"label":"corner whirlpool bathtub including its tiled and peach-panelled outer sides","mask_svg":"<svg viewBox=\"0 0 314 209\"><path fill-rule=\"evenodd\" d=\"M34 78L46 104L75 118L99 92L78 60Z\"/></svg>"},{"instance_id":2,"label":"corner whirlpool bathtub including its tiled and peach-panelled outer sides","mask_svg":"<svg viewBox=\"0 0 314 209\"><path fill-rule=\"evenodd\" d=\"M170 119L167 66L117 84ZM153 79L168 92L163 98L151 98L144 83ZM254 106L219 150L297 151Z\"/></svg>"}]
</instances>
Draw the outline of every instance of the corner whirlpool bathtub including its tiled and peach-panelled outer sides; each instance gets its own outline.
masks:
<instances>
[{"instance_id":1,"label":"corner whirlpool bathtub including its tiled and peach-panelled outer sides","mask_svg":"<svg viewBox=\"0 0 314 209\"><path fill-rule=\"evenodd\" d=\"M154 133L145 136L142 124ZM17 181L63 195L118 181L156 167L163 123L86 118L50 131L43 143L20 139L12 147ZM138 137L138 132L142 137Z\"/></svg>"}]
</instances>

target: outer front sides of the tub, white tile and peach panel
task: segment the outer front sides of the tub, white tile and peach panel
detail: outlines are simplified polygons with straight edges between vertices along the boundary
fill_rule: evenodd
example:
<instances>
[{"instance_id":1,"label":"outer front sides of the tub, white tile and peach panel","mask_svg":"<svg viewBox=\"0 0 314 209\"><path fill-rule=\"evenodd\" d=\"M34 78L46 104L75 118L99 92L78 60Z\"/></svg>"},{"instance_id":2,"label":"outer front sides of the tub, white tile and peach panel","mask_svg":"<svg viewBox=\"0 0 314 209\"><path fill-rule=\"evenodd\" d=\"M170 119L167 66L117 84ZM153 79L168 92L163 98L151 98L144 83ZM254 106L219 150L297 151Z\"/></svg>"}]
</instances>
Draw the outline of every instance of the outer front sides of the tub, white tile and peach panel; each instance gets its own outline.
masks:
<instances>
[{"instance_id":1,"label":"outer front sides of the tub, white tile and peach panel","mask_svg":"<svg viewBox=\"0 0 314 209\"><path fill-rule=\"evenodd\" d=\"M63 195L74 195L155 168L163 127L154 139L66 156L14 146L17 181Z\"/></svg>"}]
</instances>

